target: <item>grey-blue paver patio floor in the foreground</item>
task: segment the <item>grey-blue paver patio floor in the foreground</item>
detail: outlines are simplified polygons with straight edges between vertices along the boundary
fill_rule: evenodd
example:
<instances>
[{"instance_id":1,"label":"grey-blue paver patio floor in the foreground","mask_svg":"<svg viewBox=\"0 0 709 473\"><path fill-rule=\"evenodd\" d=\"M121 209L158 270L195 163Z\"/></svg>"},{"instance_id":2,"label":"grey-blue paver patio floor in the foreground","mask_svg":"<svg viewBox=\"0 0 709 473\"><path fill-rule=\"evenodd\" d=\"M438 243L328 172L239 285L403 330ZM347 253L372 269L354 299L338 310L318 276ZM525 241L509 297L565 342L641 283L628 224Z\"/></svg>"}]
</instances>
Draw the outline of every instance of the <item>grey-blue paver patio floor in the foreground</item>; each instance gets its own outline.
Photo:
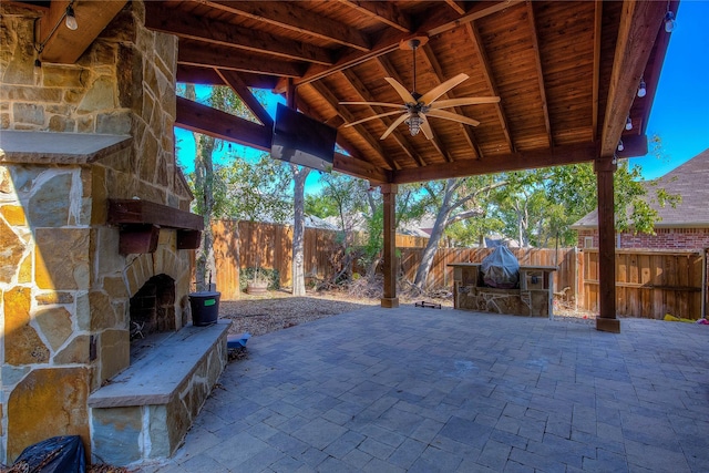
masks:
<instances>
[{"instance_id":1,"label":"grey-blue paver patio floor in the foreground","mask_svg":"<svg viewBox=\"0 0 709 473\"><path fill-rule=\"evenodd\" d=\"M372 307L254 337L176 472L706 472L709 327Z\"/></svg>"}]
</instances>

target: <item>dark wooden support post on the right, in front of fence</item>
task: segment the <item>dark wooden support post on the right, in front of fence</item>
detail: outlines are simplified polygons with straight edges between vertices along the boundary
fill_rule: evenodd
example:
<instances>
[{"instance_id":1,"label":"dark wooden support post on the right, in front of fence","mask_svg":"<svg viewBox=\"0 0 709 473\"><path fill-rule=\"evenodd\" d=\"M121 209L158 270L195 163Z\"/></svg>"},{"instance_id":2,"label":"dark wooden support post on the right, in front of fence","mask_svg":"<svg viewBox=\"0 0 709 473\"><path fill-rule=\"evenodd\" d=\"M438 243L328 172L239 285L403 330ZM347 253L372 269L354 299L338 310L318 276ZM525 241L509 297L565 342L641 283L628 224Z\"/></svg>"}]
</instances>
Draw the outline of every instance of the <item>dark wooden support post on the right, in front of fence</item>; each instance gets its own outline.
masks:
<instances>
[{"instance_id":1,"label":"dark wooden support post on the right, in front of fence","mask_svg":"<svg viewBox=\"0 0 709 473\"><path fill-rule=\"evenodd\" d=\"M616 318L616 241L613 158L595 161L598 185L598 318L596 330L620 333Z\"/></svg>"}]
</instances>

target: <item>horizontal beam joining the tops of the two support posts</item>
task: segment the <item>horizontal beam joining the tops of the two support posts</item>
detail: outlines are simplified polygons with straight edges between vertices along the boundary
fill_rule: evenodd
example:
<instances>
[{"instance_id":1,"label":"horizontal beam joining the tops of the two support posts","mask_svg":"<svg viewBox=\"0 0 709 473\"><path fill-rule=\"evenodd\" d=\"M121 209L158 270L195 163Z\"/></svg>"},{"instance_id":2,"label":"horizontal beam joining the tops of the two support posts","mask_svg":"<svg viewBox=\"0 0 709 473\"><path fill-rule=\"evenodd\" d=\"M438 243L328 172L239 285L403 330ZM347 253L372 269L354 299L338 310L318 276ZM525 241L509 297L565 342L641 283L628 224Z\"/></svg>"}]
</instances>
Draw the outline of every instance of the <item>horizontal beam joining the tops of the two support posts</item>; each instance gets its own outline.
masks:
<instances>
[{"instance_id":1,"label":"horizontal beam joining the tops of the two support posts","mask_svg":"<svg viewBox=\"0 0 709 473\"><path fill-rule=\"evenodd\" d=\"M555 146L548 150L495 155L494 160L459 160L453 163L394 171L392 184L408 184L451 177L466 177L538 167L586 163L597 157L598 143Z\"/></svg>"}]
</instances>

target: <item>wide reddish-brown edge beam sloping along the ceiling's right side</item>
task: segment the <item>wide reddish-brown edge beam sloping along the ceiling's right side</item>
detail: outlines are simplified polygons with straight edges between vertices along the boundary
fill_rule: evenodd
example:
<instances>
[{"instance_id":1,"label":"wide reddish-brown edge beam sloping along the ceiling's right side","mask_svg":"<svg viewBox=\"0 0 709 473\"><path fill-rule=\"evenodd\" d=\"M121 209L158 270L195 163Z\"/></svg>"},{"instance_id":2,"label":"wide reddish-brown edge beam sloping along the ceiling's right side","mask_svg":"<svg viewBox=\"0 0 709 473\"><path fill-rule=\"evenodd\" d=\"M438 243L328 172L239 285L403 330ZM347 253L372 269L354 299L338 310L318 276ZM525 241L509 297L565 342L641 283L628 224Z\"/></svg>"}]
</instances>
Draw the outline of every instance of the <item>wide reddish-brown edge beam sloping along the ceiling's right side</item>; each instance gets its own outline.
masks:
<instances>
[{"instance_id":1,"label":"wide reddish-brown edge beam sloping along the ceiling's right side","mask_svg":"<svg viewBox=\"0 0 709 473\"><path fill-rule=\"evenodd\" d=\"M608 101L600 134L600 156L612 157L637 93L650 51L662 28L667 3L655 1L623 2L616 41ZM662 33L666 34L662 30Z\"/></svg>"}]
</instances>

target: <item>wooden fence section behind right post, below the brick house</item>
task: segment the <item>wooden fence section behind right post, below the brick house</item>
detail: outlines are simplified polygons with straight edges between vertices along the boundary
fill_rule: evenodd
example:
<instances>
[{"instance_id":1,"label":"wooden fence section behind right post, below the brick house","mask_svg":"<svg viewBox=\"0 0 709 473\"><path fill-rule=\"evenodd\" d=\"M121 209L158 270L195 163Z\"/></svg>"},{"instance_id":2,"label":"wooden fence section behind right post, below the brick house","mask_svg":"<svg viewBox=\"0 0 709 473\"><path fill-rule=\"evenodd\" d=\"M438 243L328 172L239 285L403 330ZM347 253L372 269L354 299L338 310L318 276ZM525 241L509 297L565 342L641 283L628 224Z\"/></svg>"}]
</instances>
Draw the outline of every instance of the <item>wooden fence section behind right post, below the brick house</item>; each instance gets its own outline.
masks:
<instances>
[{"instance_id":1,"label":"wooden fence section behind right post, below the brick house","mask_svg":"<svg viewBox=\"0 0 709 473\"><path fill-rule=\"evenodd\" d=\"M616 311L645 319L699 319L706 310L705 251L616 249ZM585 249L582 306L598 310L598 250ZM702 287L705 288L702 290Z\"/></svg>"}]
</instances>

